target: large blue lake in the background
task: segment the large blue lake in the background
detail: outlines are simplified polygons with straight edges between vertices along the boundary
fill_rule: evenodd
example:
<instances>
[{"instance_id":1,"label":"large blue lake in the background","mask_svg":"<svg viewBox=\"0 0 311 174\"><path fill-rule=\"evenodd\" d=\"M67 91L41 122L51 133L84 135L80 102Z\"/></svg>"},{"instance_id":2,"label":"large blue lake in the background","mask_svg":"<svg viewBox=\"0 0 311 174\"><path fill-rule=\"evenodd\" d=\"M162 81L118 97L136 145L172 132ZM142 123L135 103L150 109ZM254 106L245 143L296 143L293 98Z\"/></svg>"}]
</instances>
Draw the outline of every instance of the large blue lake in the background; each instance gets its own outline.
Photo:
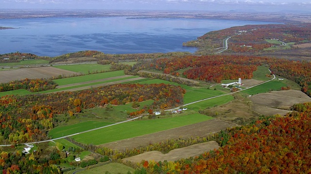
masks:
<instances>
[{"instance_id":1,"label":"large blue lake in the background","mask_svg":"<svg viewBox=\"0 0 311 174\"><path fill-rule=\"evenodd\" d=\"M259 21L126 17L0 19L0 54L59 56L97 50L106 54L194 52L182 43L212 30Z\"/></svg>"}]
</instances>

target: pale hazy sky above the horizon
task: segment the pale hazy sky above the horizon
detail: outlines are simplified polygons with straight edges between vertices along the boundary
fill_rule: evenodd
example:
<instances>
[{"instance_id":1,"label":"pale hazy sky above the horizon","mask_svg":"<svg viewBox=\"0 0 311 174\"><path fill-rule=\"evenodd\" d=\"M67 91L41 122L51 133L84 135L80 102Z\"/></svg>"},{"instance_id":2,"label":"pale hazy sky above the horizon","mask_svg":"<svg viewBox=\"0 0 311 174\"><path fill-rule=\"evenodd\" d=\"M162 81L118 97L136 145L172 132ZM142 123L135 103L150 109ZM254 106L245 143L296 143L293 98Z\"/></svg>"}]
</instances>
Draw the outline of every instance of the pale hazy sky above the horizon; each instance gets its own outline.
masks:
<instances>
[{"instance_id":1,"label":"pale hazy sky above the horizon","mask_svg":"<svg viewBox=\"0 0 311 174\"><path fill-rule=\"evenodd\" d=\"M0 0L0 9L311 12L311 0Z\"/></svg>"}]
</instances>

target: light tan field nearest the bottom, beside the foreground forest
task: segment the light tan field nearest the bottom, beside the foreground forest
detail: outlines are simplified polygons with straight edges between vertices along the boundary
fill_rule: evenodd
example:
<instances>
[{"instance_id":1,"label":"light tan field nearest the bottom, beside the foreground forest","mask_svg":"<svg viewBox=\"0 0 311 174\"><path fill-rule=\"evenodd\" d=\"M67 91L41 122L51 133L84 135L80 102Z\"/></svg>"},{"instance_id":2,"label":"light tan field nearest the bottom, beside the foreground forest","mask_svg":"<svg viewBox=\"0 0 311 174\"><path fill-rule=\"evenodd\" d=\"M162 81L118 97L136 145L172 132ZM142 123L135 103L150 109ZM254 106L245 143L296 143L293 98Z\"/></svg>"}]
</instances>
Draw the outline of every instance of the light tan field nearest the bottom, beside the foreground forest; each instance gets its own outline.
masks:
<instances>
[{"instance_id":1,"label":"light tan field nearest the bottom, beside the foreground forest","mask_svg":"<svg viewBox=\"0 0 311 174\"><path fill-rule=\"evenodd\" d=\"M122 161L130 161L132 163L141 162L141 160L155 160L158 161L175 161L175 160L181 160L186 159L190 157L196 157L199 156L205 152L208 152L210 150L218 149L219 145L215 141L210 141L206 143L201 143L197 145L190 145L188 147L178 148L171 150L167 154L162 154L162 152L159 151L151 151L151 152L144 152L142 154L125 158Z\"/></svg>"}]
</instances>

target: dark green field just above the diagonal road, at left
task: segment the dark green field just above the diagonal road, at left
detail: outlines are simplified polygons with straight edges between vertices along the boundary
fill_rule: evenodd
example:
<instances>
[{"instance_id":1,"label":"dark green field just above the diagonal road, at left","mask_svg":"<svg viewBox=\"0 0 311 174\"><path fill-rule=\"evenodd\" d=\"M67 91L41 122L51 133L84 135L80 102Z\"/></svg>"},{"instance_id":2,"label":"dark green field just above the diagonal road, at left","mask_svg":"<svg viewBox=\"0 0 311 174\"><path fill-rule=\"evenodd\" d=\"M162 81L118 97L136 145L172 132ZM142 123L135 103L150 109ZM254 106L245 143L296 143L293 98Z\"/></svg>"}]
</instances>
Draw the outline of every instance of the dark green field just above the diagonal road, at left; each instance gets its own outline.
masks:
<instances>
[{"instance_id":1,"label":"dark green field just above the diagonal road, at left","mask_svg":"<svg viewBox=\"0 0 311 174\"><path fill-rule=\"evenodd\" d=\"M56 128L53 128L51 131L49 131L49 136L52 138L59 138L66 135L71 135L74 133L78 133L81 131L87 131L103 126L107 126L113 124L111 122L103 122L103 121L86 121L77 123L70 126L59 126Z\"/></svg>"}]
</instances>

